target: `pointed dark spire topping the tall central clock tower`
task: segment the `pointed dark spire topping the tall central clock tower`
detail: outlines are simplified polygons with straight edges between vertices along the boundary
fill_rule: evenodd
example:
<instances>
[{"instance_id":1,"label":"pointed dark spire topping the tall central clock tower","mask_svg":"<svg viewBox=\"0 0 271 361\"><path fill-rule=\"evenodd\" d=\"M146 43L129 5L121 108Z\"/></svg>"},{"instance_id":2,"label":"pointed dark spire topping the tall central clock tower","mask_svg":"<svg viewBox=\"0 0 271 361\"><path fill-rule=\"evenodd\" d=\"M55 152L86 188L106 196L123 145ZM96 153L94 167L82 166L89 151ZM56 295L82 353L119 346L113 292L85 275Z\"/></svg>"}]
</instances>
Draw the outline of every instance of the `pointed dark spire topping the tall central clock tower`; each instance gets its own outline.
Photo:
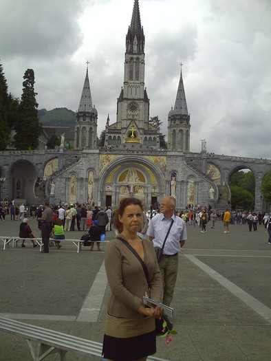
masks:
<instances>
[{"instance_id":1,"label":"pointed dark spire topping the tall central clock tower","mask_svg":"<svg viewBox=\"0 0 271 361\"><path fill-rule=\"evenodd\" d=\"M140 10L138 0L133 4L133 15L131 25L128 28L126 36L126 52L143 54L145 45L145 36L140 21Z\"/></svg>"}]
</instances>

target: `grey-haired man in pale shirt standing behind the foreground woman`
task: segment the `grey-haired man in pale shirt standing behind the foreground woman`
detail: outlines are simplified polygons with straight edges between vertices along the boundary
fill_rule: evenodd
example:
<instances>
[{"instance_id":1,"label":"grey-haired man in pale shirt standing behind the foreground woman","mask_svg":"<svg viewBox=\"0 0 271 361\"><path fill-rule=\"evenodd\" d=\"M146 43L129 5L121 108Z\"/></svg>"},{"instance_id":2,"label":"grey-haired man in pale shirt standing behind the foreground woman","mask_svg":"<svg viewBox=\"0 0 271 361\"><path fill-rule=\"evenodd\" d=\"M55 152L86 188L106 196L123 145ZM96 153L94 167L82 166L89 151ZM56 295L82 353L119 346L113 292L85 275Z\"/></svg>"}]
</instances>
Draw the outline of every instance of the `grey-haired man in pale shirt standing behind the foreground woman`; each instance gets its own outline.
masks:
<instances>
[{"instance_id":1,"label":"grey-haired man in pale shirt standing behind the foreground woman","mask_svg":"<svg viewBox=\"0 0 271 361\"><path fill-rule=\"evenodd\" d=\"M171 304L177 280L178 252L187 239L186 224L183 219L175 216L175 206L176 199L174 197L164 197L161 203L161 213L149 221L147 230L147 235L150 241L153 241L153 246L162 248L166 234L173 222L164 244L162 259L158 263L164 285L162 303L168 306Z\"/></svg>"}]
</instances>

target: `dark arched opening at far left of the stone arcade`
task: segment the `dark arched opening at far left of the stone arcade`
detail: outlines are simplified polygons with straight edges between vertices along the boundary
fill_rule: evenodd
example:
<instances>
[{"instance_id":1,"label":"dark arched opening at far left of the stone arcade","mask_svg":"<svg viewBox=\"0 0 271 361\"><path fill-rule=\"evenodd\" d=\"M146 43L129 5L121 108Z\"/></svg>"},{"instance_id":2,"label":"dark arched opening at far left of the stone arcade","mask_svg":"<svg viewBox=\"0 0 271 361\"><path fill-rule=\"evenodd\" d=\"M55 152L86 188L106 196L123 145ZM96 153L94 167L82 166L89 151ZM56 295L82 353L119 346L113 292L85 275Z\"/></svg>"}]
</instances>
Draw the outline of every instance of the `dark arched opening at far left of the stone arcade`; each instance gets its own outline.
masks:
<instances>
[{"instance_id":1,"label":"dark arched opening at far left of the stone arcade","mask_svg":"<svg viewBox=\"0 0 271 361\"><path fill-rule=\"evenodd\" d=\"M31 203L34 200L34 185L36 170L32 163L19 160L10 169L10 199L25 199Z\"/></svg>"}]
</instances>

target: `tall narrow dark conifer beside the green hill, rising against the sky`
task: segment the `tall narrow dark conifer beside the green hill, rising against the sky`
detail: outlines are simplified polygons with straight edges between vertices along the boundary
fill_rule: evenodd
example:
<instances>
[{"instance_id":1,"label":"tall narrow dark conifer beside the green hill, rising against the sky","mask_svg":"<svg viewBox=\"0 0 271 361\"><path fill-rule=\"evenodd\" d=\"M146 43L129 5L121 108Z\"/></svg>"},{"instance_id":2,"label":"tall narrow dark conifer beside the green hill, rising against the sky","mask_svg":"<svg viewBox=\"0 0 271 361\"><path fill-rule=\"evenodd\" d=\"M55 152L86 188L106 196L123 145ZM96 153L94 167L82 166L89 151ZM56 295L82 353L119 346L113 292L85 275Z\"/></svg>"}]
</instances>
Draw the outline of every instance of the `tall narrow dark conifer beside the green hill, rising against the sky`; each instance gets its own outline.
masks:
<instances>
[{"instance_id":1,"label":"tall narrow dark conifer beside the green hill, rising against the sky","mask_svg":"<svg viewBox=\"0 0 271 361\"><path fill-rule=\"evenodd\" d=\"M38 103L34 91L34 70L27 69L23 76L23 94L19 107L19 120L14 124L14 146L17 150L36 149L43 132L38 118Z\"/></svg>"}]
</instances>

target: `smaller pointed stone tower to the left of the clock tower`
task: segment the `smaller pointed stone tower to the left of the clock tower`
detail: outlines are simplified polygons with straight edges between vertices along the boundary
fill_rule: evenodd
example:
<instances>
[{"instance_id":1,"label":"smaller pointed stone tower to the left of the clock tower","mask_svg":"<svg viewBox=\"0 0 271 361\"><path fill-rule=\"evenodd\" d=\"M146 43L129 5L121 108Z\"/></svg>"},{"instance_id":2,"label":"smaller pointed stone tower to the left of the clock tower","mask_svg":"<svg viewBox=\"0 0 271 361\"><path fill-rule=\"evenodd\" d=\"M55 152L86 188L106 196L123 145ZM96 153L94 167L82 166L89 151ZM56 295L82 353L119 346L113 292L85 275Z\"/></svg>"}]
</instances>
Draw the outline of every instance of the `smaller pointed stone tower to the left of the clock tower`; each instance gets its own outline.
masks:
<instances>
[{"instance_id":1,"label":"smaller pointed stone tower to the left of the clock tower","mask_svg":"<svg viewBox=\"0 0 271 361\"><path fill-rule=\"evenodd\" d=\"M88 62L87 62L88 65ZM89 87L89 69L85 76L85 83L76 112L74 148L96 148L98 112L92 107L91 91Z\"/></svg>"}]
</instances>

